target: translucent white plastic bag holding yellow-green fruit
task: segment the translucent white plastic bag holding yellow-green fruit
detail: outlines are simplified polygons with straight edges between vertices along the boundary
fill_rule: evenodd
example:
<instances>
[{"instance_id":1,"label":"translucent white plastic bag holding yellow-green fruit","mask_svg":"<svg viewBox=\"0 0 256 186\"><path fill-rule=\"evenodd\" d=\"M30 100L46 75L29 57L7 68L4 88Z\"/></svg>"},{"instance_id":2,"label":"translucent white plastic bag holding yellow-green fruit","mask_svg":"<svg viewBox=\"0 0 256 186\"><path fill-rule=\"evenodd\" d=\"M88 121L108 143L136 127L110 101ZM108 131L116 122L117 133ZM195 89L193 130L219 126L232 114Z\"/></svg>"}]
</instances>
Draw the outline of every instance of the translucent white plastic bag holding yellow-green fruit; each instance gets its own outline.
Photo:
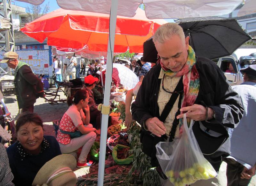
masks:
<instances>
[{"instance_id":1,"label":"translucent white plastic bag holding yellow-green fruit","mask_svg":"<svg viewBox=\"0 0 256 186\"><path fill-rule=\"evenodd\" d=\"M217 176L212 165L207 161L196 141L192 130L194 121L188 128L186 115L183 118L183 132L180 139L156 144L156 157L170 182L175 186L185 186L197 180L207 180Z\"/></svg>"}]
</instances>

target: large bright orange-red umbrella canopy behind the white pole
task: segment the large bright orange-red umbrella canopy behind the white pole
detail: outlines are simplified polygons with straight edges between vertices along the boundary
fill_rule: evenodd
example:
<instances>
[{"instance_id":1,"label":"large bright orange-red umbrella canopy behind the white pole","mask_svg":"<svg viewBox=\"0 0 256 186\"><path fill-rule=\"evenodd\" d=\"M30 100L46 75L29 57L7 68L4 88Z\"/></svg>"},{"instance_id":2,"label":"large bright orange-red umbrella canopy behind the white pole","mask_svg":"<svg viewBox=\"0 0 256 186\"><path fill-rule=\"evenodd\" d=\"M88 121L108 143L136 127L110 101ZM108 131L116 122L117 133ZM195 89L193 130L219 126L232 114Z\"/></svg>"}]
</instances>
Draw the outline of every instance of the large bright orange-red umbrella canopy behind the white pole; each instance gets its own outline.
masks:
<instances>
[{"instance_id":1,"label":"large bright orange-red umbrella canopy behind the white pole","mask_svg":"<svg viewBox=\"0 0 256 186\"><path fill-rule=\"evenodd\" d=\"M157 28L166 23L163 19L148 19L145 12L137 10L134 17L117 16L114 52L143 52L143 42ZM109 15L58 9L20 29L29 37L58 47L82 48L91 51L108 51Z\"/></svg>"}]
</instances>

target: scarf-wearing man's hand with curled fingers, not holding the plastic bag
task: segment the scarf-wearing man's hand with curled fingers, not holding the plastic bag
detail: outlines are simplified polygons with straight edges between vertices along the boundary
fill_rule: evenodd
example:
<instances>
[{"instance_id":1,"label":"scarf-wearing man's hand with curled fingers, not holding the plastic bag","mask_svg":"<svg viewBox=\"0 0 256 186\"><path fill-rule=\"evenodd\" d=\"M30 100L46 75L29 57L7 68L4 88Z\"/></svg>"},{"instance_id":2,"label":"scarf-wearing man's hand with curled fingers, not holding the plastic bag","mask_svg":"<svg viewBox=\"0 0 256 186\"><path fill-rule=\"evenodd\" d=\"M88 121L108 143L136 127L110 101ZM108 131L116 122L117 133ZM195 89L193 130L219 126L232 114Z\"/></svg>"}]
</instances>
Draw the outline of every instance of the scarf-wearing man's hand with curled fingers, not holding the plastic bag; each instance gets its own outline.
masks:
<instances>
[{"instance_id":1,"label":"scarf-wearing man's hand with curled fingers, not holding the plastic bag","mask_svg":"<svg viewBox=\"0 0 256 186\"><path fill-rule=\"evenodd\" d=\"M158 137L161 137L166 132L164 123L156 117L148 118L145 121L145 125L147 126L147 128L150 132L152 132L154 135L156 135Z\"/></svg>"}]
</instances>

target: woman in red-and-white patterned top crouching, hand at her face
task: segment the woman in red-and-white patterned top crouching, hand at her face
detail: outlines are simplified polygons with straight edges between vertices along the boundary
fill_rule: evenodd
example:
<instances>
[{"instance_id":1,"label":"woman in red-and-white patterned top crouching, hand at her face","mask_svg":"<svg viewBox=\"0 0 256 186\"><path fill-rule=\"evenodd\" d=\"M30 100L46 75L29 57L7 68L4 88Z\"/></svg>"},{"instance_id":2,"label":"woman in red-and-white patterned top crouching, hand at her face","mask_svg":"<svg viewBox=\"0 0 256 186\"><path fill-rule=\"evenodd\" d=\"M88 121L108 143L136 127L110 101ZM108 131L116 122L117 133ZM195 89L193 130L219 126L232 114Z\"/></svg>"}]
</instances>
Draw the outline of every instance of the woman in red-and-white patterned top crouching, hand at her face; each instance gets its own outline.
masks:
<instances>
[{"instance_id":1,"label":"woman in red-and-white patterned top crouching, hand at her face","mask_svg":"<svg viewBox=\"0 0 256 186\"><path fill-rule=\"evenodd\" d=\"M78 158L77 167L89 167L93 161L86 160L87 155L96 139L97 130L93 128L90 121L90 109L88 106L89 95L86 90L78 90L73 97L69 97L68 104L73 104L68 108L60 120L57 140L62 153L70 153L83 147ZM85 112L85 114L84 114ZM80 131L79 137L71 137ZM79 132L78 132L79 133Z\"/></svg>"}]
</instances>

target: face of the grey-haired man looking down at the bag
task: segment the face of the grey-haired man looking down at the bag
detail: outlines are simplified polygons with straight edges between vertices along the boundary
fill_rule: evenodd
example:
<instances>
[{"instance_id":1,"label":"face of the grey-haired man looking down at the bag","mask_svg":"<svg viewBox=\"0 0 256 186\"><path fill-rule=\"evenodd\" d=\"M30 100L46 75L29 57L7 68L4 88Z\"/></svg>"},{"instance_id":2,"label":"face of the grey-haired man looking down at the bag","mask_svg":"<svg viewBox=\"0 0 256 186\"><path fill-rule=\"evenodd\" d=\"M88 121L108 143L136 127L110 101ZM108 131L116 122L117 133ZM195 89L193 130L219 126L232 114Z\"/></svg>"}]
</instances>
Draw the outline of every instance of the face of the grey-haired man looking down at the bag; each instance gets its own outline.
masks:
<instances>
[{"instance_id":1,"label":"face of the grey-haired man looking down at the bag","mask_svg":"<svg viewBox=\"0 0 256 186\"><path fill-rule=\"evenodd\" d=\"M165 68L172 72L178 72L182 69L188 57L188 40L189 37L182 40L180 36L174 35L163 44L155 43L156 50Z\"/></svg>"}]
</instances>

